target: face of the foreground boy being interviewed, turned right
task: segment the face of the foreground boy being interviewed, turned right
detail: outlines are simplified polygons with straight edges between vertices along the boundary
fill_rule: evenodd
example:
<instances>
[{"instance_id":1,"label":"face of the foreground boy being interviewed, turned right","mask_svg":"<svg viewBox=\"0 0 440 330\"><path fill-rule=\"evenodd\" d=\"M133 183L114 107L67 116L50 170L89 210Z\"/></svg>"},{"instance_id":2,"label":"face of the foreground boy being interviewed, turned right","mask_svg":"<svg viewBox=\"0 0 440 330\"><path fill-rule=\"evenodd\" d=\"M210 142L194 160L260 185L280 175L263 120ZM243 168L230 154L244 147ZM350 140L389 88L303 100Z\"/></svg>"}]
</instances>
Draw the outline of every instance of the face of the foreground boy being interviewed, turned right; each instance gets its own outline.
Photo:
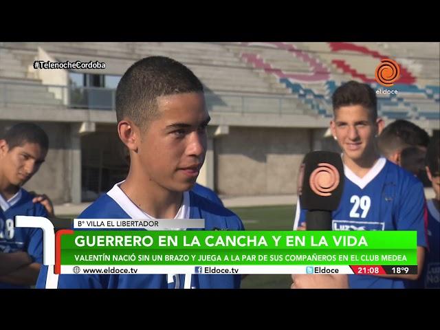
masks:
<instances>
[{"instance_id":1,"label":"face of the foreground boy being interviewed, turned right","mask_svg":"<svg viewBox=\"0 0 440 330\"><path fill-rule=\"evenodd\" d=\"M206 155L210 120L201 93L157 98L159 117L141 133L138 155L150 180L173 191L195 184Z\"/></svg>"}]
</instances>

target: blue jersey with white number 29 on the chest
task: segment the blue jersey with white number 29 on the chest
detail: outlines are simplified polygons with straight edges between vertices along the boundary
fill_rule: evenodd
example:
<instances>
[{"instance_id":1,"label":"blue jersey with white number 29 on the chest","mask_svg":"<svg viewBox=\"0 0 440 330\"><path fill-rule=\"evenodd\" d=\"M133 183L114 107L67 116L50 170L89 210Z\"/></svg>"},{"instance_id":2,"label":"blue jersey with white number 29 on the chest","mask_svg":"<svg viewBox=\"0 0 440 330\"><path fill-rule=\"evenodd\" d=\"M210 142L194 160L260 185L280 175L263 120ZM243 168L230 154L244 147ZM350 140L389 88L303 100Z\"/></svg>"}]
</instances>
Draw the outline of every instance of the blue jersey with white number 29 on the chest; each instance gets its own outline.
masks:
<instances>
[{"instance_id":1,"label":"blue jersey with white number 29 on the chest","mask_svg":"<svg viewBox=\"0 0 440 330\"><path fill-rule=\"evenodd\" d=\"M427 246L423 185L414 175L384 157L377 159L362 178L347 166L344 175L344 192L338 209L332 212L333 230L415 230L417 245ZM305 221L305 212L297 212L294 229ZM350 287L360 289L404 288L406 282L400 278L349 276Z\"/></svg>"}]
</instances>

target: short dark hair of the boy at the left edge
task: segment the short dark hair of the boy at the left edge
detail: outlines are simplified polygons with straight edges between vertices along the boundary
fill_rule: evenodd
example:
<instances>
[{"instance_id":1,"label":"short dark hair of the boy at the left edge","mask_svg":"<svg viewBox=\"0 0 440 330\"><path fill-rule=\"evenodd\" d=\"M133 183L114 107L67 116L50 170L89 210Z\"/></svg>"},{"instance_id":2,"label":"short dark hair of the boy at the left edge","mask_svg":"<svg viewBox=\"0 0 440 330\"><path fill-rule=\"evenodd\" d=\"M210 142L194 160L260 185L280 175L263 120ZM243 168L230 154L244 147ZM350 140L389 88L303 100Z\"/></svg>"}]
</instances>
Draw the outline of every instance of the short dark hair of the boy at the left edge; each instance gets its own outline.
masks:
<instances>
[{"instance_id":1,"label":"short dark hair of the boy at the left edge","mask_svg":"<svg viewBox=\"0 0 440 330\"><path fill-rule=\"evenodd\" d=\"M15 124L6 131L3 139L8 143L10 150L16 146L23 146L26 143L39 144L45 150L49 148L49 137L47 137L46 132L32 122Z\"/></svg>"}]
</instances>

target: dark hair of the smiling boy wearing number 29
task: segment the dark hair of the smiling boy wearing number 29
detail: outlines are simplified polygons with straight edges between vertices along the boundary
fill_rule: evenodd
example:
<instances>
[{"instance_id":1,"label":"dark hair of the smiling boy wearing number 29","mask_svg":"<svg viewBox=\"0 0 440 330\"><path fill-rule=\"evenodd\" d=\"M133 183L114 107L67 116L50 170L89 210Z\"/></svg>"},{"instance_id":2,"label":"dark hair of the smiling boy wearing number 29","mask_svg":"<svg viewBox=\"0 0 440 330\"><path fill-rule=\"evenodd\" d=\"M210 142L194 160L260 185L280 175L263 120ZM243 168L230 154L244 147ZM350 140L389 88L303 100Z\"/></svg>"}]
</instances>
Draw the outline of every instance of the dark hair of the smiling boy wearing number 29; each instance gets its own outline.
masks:
<instances>
[{"instance_id":1,"label":"dark hair of the smiling boy wearing number 29","mask_svg":"<svg viewBox=\"0 0 440 330\"><path fill-rule=\"evenodd\" d=\"M377 119L377 97L369 85L351 80L336 89L332 101L333 113L340 107L360 104L369 109L373 121Z\"/></svg>"}]
</instances>

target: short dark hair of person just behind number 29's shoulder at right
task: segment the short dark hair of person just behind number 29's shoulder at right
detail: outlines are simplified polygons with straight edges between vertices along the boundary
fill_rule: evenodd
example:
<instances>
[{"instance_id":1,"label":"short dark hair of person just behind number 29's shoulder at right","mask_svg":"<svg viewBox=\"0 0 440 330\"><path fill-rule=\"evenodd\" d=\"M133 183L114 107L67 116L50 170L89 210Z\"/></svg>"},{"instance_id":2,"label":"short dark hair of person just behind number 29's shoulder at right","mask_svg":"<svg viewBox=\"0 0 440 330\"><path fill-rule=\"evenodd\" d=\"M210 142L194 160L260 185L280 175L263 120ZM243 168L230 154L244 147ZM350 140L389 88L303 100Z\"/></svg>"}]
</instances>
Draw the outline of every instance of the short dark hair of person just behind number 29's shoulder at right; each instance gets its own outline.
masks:
<instances>
[{"instance_id":1,"label":"short dark hair of person just behind number 29's shoulder at right","mask_svg":"<svg viewBox=\"0 0 440 330\"><path fill-rule=\"evenodd\" d=\"M408 120L395 120L388 124L377 140L380 151L387 157L397 150L408 146L424 146L429 144L429 135L424 129Z\"/></svg>"}]
</instances>

